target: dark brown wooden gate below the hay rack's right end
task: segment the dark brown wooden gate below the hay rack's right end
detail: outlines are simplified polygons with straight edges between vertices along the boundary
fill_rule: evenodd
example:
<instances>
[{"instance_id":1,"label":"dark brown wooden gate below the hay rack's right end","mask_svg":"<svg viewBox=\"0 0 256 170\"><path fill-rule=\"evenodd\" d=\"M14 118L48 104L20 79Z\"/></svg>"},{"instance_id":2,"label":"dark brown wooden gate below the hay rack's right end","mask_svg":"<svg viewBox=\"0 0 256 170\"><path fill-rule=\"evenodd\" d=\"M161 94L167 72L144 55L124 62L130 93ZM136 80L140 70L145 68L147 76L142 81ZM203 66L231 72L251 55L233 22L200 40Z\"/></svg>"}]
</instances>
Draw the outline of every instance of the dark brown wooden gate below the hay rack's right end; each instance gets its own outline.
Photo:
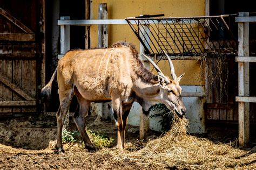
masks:
<instances>
[{"instance_id":1,"label":"dark brown wooden gate below the hay rack's right end","mask_svg":"<svg viewBox=\"0 0 256 170\"><path fill-rule=\"evenodd\" d=\"M207 122L235 123L238 121L237 64L235 56L209 56L207 59Z\"/></svg>"}]
</instances>

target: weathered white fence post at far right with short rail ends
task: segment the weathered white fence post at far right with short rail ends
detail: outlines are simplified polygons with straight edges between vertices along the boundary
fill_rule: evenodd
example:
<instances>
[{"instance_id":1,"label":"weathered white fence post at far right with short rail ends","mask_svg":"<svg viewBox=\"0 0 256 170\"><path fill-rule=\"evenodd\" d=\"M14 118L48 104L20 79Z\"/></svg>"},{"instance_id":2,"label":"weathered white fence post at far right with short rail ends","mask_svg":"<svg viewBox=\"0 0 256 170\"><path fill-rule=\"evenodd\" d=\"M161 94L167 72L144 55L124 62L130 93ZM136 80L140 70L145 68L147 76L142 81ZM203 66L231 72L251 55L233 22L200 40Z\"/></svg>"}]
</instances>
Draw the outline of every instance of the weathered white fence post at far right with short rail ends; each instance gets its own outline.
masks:
<instances>
[{"instance_id":1,"label":"weathered white fence post at far right with short rail ends","mask_svg":"<svg viewBox=\"0 0 256 170\"><path fill-rule=\"evenodd\" d=\"M235 61L238 62L238 128L239 145L247 146L250 142L250 102L256 103L256 97L250 97L249 89L249 62L256 62L255 56L249 56L249 23L256 22L256 17L249 17L249 12L240 12L235 17L238 23L238 55Z\"/></svg>"}]
</instances>

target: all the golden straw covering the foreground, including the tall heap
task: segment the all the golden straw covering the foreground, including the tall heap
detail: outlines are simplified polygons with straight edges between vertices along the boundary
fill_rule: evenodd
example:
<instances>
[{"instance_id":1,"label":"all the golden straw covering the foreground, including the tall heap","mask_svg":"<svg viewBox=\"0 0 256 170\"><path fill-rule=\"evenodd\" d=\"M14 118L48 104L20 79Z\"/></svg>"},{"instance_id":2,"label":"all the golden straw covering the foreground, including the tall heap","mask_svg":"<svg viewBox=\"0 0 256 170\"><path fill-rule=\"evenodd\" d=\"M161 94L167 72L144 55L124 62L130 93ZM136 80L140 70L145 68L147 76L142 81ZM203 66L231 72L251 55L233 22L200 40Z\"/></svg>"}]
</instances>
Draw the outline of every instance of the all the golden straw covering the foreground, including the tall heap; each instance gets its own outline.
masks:
<instances>
[{"instance_id":1,"label":"all the golden straw covering the foreground, including the tall heap","mask_svg":"<svg viewBox=\"0 0 256 170\"><path fill-rule=\"evenodd\" d=\"M9 148L0 168L256 168L256 153L190 136L187 125L187 119L174 116L169 132L147 143L130 141L122 151L103 147L90 153L81 143L65 144L65 154L50 150L54 144L38 153L14 155Z\"/></svg>"}]
</instances>

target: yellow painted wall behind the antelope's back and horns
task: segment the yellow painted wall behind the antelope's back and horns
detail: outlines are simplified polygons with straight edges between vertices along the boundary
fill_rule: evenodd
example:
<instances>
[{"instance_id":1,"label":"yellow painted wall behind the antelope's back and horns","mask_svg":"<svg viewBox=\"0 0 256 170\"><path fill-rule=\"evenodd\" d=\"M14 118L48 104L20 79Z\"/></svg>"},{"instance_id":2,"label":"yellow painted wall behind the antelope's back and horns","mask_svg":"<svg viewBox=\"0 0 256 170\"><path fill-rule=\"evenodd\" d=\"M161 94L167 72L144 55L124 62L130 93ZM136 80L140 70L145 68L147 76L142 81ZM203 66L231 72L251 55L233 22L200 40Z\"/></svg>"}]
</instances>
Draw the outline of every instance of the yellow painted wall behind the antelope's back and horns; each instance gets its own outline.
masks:
<instances>
[{"instance_id":1,"label":"yellow painted wall behind the antelope's back and horns","mask_svg":"<svg viewBox=\"0 0 256 170\"><path fill-rule=\"evenodd\" d=\"M108 19L125 19L126 17L139 16L140 14L156 15L163 13L164 17L191 17L205 15L205 0L92 0L92 19L98 19L98 4L107 3ZM97 47L98 26L92 25L91 47ZM109 45L117 41L128 41L139 49L139 40L132 32L129 25L109 25ZM193 76L199 75L199 63L196 61L173 61L177 76L185 73L180 84L200 84L201 81ZM165 61L160 62L160 68L169 74L169 66L161 67Z\"/></svg>"}]
</instances>

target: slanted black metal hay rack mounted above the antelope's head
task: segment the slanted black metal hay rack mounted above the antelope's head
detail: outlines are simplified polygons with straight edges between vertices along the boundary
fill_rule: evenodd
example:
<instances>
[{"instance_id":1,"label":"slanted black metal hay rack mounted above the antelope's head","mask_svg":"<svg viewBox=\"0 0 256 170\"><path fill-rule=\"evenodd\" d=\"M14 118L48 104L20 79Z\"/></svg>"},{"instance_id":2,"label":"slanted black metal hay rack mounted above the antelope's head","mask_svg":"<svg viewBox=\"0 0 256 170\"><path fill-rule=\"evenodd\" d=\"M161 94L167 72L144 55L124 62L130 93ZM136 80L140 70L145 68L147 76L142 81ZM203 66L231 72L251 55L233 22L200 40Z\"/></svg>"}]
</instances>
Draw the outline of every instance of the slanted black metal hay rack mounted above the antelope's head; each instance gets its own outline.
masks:
<instances>
[{"instance_id":1,"label":"slanted black metal hay rack mounted above the antelope's head","mask_svg":"<svg viewBox=\"0 0 256 170\"><path fill-rule=\"evenodd\" d=\"M140 16L126 21L146 54L164 56L165 51L172 56L198 56L205 52L237 53L237 38L232 33L235 16Z\"/></svg>"}]
</instances>

